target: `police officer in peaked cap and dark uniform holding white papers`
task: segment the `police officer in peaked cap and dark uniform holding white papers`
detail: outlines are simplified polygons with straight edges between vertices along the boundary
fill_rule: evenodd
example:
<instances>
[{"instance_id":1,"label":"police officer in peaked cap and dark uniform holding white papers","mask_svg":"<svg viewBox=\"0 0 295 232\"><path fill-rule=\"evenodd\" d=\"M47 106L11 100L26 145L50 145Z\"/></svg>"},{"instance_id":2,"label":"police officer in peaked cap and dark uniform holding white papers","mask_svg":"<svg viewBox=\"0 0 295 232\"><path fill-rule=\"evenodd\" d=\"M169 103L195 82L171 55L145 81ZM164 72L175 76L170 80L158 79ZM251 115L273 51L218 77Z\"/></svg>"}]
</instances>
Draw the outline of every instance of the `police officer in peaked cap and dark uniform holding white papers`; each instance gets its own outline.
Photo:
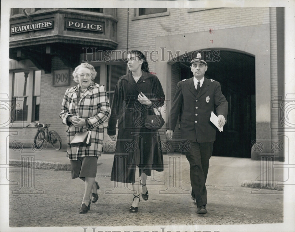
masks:
<instances>
[{"instance_id":1,"label":"police officer in peaked cap and dark uniform holding white papers","mask_svg":"<svg viewBox=\"0 0 295 232\"><path fill-rule=\"evenodd\" d=\"M185 155L190 164L191 196L199 214L207 213L205 183L216 132L210 122L211 111L214 111L215 106L218 124L222 127L226 123L228 106L219 82L204 77L207 68L206 61L198 53L191 61L194 76L177 83L169 117L171 127L166 131L167 139L172 139L181 112L181 138L190 141L190 148Z\"/></svg>"}]
</instances>

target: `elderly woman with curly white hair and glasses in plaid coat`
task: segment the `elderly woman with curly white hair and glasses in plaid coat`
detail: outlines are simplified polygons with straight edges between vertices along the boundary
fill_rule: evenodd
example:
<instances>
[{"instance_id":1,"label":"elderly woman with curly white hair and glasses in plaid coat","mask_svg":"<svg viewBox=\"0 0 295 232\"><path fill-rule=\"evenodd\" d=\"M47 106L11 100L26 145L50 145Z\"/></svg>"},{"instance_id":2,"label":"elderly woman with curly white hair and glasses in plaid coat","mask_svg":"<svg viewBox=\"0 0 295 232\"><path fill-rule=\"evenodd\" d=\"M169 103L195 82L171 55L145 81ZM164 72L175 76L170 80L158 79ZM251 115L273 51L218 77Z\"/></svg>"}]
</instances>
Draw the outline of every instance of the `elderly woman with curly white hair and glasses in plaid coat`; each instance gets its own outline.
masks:
<instances>
[{"instance_id":1,"label":"elderly woman with curly white hair and glasses in plaid coat","mask_svg":"<svg viewBox=\"0 0 295 232\"><path fill-rule=\"evenodd\" d=\"M95 181L97 159L102 152L104 139L103 123L110 116L110 104L105 87L93 82L96 76L94 67L81 63L73 72L77 86L68 88L59 116L68 126L68 151L72 167L72 179L79 177L85 182L85 191L79 213L87 213L90 203L98 200L98 183ZM91 145L79 148L70 142L79 131L91 130ZM92 192L92 194L91 194ZM91 194L91 200L90 200Z\"/></svg>"}]
</instances>

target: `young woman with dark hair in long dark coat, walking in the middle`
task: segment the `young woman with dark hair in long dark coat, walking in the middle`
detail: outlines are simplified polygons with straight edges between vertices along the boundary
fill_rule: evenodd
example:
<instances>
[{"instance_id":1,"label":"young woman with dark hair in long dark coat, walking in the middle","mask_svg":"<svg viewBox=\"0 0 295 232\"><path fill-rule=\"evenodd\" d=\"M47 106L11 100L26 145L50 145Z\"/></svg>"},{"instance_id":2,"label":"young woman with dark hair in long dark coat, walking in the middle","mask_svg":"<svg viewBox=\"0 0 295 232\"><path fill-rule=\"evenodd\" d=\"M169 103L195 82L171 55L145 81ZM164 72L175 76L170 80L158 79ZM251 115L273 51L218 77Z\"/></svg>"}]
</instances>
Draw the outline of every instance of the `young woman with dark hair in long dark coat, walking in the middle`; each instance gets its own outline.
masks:
<instances>
[{"instance_id":1,"label":"young woman with dark hair in long dark coat, walking in the middle","mask_svg":"<svg viewBox=\"0 0 295 232\"><path fill-rule=\"evenodd\" d=\"M151 74L145 56L138 50L127 55L130 73L121 76L114 91L107 132L116 140L111 180L132 183L131 213L138 211L139 184L143 200L148 200L147 176L151 170L163 171L163 154L159 148L158 130L149 130L142 124L154 108L163 106L165 95L159 79ZM118 121L118 137L116 124Z\"/></svg>"}]
</instances>

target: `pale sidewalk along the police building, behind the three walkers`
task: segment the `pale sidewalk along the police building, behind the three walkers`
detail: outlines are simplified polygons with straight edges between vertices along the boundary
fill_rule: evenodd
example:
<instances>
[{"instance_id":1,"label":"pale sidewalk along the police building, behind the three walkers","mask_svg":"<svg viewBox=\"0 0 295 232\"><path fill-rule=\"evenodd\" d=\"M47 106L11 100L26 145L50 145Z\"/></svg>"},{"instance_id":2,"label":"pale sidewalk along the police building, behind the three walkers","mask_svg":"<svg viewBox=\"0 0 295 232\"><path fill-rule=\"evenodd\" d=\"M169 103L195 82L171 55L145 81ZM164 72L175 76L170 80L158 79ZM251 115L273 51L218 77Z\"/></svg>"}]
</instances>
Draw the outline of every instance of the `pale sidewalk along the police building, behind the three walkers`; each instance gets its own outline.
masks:
<instances>
[{"instance_id":1,"label":"pale sidewalk along the police building, behind the three walkers","mask_svg":"<svg viewBox=\"0 0 295 232\"><path fill-rule=\"evenodd\" d=\"M168 167L168 156L171 157L171 155L163 155L166 167ZM189 177L189 163L186 157L184 155L177 156L181 157L180 167L182 176ZM27 157L30 158L27 159ZM34 157L34 159L32 159L32 157ZM98 173L108 173L109 170L112 169L113 159L113 154L102 154L98 159ZM25 161L30 167L32 167L32 161L34 161L35 169L71 170L70 161L66 157L66 150L63 148L60 151L47 148L42 151L35 151L35 153L31 148L24 148L21 152L9 148L9 164L14 166L27 166L24 165L21 160L23 160L23 162ZM274 164L282 163L275 161ZM284 180L283 171L284 169L282 168L271 169L270 163L267 165L260 165L260 161L248 158L212 156L206 185L260 188L261 182L263 182L263 185L266 185L264 188L272 189L274 184L275 189L282 190L283 185L276 185L276 182ZM273 174L273 181L271 179L265 180L266 174L269 175L271 172ZM263 178L264 181L262 181ZM189 178L187 181L190 181Z\"/></svg>"}]
</instances>

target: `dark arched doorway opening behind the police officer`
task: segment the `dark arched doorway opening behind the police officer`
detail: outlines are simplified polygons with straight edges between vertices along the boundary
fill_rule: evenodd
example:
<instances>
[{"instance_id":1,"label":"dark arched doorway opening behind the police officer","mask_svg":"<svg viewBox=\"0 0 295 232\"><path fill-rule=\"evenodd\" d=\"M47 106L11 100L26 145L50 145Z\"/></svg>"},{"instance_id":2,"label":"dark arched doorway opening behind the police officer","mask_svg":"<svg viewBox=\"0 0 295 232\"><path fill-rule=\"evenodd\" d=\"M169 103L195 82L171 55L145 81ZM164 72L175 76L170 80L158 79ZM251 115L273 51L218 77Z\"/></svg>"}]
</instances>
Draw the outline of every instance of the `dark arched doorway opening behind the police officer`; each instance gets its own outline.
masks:
<instances>
[{"instance_id":1,"label":"dark arched doorway opening behind the police officer","mask_svg":"<svg viewBox=\"0 0 295 232\"><path fill-rule=\"evenodd\" d=\"M205 50L199 50L204 54ZM216 132L214 156L251 157L251 141L256 138L255 113L255 57L236 50L206 49L208 69L205 77L219 81L222 93L228 101L227 124L224 131ZM197 54L195 52L189 53ZM211 55L211 57L210 57ZM214 57L213 57L214 56ZM191 78L190 62L187 54L178 57L171 67L172 99L176 84ZM175 130L175 138L180 138L180 130ZM174 136L174 135L173 135Z\"/></svg>"}]
</instances>

